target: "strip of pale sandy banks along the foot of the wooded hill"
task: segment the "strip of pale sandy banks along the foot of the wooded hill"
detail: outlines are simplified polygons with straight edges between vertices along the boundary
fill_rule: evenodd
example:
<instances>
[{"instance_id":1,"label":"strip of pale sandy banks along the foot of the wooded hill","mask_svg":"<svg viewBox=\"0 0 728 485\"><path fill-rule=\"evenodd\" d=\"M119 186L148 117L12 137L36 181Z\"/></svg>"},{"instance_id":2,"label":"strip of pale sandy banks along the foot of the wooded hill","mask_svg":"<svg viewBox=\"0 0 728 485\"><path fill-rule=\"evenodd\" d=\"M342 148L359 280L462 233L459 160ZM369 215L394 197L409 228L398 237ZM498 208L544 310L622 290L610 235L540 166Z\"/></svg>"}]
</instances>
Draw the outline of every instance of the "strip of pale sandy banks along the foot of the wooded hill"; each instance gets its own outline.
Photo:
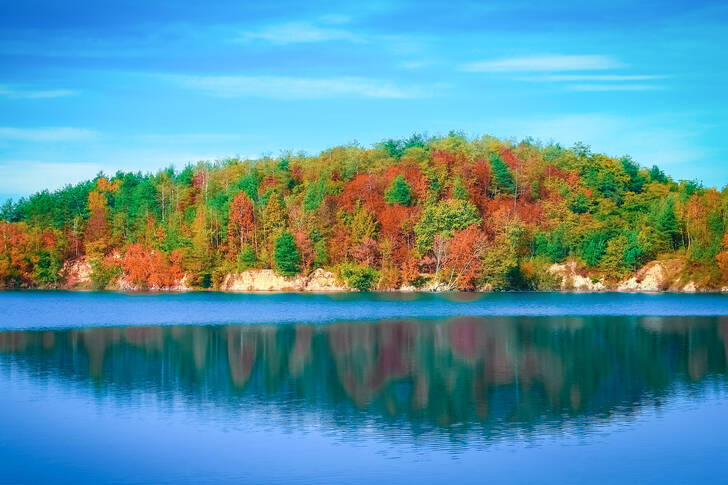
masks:
<instances>
[{"instance_id":1,"label":"strip of pale sandy banks along the foot of the wooded hill","mask_svg":"<svg viewBox=\"0 0 728 485\"><path fill-rule=\"evenodd\" d=\"M208 288L197 286L190 273L182 274L164 286L147 286L144 281L132 280L130 275L122 273L103 287L94 281L93 271L85 258L68 261L60 274L60 282L35 287L0 288L0 291L12 290L66 290L66 291L112 291L119 293L187 293L187 292L220 292L220 293L326 293L341 294L352 292L371 293L728 293L728 286L714 287L708 281L695 278L683 271L684 262L675 259L655 260L647 263L639 270L624 275L621 279L609 279L603 273L590 272L577 261L568 260L552 264L544 269L542 278L548 284L533 289L501 289L489 283L481 283L469 290L458 290L453 285L434 281L435 275L420 273L419 284L386 286L382 282L372 282L367 287L354 287L340 274L336 268L316 268L315 270L296 276L282 276L272 269L247 269L242 272L229 272L218 275Z\"/></svg>"}]
</instances>

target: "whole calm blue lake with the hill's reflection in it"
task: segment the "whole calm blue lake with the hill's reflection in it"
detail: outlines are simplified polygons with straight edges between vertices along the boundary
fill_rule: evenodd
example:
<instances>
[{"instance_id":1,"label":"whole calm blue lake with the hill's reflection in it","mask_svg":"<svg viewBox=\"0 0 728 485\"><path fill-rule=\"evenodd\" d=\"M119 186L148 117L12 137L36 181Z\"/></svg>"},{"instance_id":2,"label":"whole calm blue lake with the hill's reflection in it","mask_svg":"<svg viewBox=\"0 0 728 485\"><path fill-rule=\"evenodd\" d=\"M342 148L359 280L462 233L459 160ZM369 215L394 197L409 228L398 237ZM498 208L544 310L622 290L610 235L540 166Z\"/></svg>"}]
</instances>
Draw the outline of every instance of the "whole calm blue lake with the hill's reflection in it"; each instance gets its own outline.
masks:
<instances>
[{"instance_id":1,"label":"whole calm blue lake with the hill's reflection in it","mask_svg":"<svg viewBox=\"0 0 728 485\"><path fill-rule=\"evenodd\" d=\"M720 294L0 293L0 483L725 482Z\"/></svg>"}]
</instances>

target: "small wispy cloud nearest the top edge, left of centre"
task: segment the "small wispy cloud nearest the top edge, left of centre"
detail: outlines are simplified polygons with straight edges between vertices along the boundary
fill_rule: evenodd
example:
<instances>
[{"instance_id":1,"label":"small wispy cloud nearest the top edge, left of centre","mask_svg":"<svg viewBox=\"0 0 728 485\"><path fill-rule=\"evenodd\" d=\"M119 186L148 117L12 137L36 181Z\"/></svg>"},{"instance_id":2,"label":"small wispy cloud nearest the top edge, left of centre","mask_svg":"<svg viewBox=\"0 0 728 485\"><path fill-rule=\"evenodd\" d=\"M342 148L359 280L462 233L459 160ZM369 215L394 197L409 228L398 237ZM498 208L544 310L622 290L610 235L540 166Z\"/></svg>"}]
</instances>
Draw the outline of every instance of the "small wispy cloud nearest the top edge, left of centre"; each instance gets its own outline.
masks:
<instances>
[{"instance_id":1,"label":"small wispy cloud nearest the top edge, left of centre","mask_svg":"<svg viewBox=\"0 0 728 485\"><path fill-rule=\"evenodd\" d=\"M263 40L272 44L303 44L343 40L362 42L363 37L344 29L319 27L308 22L288 22L245 32L238 40Z\"/></svg>"}]
</instances>

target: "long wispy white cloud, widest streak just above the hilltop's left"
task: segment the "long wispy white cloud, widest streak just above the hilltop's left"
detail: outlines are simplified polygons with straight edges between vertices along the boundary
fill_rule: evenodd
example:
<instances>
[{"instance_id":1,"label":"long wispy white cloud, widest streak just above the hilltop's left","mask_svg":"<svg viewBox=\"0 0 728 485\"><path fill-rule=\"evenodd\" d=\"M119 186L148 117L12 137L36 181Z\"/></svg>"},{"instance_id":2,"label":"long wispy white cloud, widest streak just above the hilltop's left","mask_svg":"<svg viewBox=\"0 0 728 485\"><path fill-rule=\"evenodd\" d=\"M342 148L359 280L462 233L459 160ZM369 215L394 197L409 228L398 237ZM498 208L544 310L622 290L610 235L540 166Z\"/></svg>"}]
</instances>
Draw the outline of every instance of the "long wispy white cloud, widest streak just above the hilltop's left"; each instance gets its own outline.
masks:
<instances>
[{"instance_id":1,"label":"long wispy white cloud, widest streak just above the hilltop's left","mask_svg":"<svg viewBox=\"0 0 728 485\"><path fill-rule=\"evenodd\" d=\"M285 76L168 76L180 85L209 96L237 98L256 96L277 99L339 97L411 99L437 94L444 85L400 85L392 81L362 78L302 78Z\"/></svg>"}]
</instances>

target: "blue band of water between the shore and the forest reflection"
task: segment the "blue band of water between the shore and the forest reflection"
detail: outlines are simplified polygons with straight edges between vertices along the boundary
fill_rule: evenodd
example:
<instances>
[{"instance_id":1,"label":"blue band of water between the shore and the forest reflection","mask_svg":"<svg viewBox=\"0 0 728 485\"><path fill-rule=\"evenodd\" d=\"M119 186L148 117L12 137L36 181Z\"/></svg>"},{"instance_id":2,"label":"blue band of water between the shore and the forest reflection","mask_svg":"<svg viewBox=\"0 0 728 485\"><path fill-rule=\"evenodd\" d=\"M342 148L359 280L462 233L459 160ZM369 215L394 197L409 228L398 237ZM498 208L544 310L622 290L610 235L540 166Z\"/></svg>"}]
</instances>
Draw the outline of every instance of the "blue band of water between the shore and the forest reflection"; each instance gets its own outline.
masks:
<instances>
[{"instance_id":1,"label":"blue band of water between the shore and the forest reflection","mask_svg":"<svg viewBox=\"0 0 728 485\"><path fill-rule=\"evenodd\" d=\"M728 315L728 295L0 292L0 329L563 315Z\"/></svg>"}]
</instances>

